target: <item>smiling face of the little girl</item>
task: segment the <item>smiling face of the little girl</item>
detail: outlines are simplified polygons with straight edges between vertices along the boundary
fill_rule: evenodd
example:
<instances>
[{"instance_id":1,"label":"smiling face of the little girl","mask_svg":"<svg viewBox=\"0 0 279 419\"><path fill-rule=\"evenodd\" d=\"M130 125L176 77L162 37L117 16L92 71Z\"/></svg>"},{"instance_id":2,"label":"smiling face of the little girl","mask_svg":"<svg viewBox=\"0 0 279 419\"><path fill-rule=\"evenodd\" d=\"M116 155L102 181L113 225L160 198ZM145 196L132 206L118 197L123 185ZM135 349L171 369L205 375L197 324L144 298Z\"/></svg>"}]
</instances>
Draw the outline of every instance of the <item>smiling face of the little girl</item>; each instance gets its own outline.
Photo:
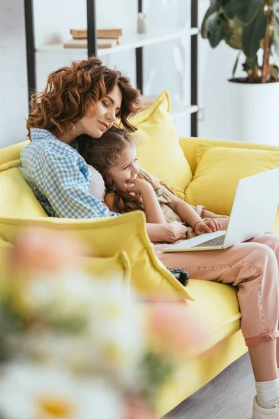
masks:
<instances>
[{"instance_id":1,"label":"smiling face of the little girl","mask_svg":"<svg viewBox=\"0 0 279 419\"><path fill-rule=\"evenodd\" d=\"M140 170L137 163L137 148L135 145L127 145L121 158L109 170L112 180L116 184L117 189L126 189L129 179L135 179Z\"/></svg>"}]
</instances>

